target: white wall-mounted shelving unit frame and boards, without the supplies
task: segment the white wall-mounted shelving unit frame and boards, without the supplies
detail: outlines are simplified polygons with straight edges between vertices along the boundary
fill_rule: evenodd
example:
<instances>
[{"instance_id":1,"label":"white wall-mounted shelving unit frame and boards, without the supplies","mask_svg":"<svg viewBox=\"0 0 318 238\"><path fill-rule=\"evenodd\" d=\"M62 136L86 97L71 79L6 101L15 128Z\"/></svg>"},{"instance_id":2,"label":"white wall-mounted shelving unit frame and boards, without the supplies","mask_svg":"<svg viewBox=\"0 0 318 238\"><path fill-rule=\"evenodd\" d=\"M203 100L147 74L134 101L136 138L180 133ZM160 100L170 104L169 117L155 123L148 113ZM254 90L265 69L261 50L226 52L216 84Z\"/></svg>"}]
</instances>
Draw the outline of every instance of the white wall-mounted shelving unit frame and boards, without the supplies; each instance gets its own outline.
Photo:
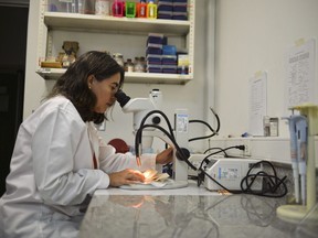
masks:
<instances>
[{"instance_id":1,"label":"white wall-mounted shelving unit frame and boards, without the supplies","mask_svg":"<svg viewBox=\"0 0 318 238\"><path fill-rule=\"evenodd\" d=\"M44 79L57 79L66 69L60 67L43 67L43 62L46 62L47 57L56 56L59 54L59 45L61 45L61 36L64 34L64 39L70 41L82 41L84 42L85 48L83 51L98 50L100 48L100 34L107 35L107 47L110 52L118 52L118 45L123 45L123 41L117 42L123 37L134 39L136 36L144 37L148 36L149 33L162 34L172 39L172 42L179 44L181 50L186 50L189 55L189 72L188 74L171 74L166 73L137 73L126 72L125 82L134 84L174 84L186 85L193 79L194 68L194 6L195 0L188 0L188 20L168 20L168 19L146 19L146 18L118 18L113 15L97 15L97 14L83 14L83 13L71 13L71 12L51 12L47 11L47 0L40 0L40 18L39 18L39 43L38 43L38 58L39 65L36 66L36 73ZM83 37L83 34L93 35L92 41L87 42L87 37ZM96 34L98 36L96 37ZM95 36L95 37L94 37ZM109 40L109 36L112 37ZM116 40L114 40L114 37ZM57 39L57 40L56 40ZM75 40L74 40L75 39ZM85 42L86 41L86 42ZM97 45L96 45L97 41ZM129 40L128 40L129 41ZM172 44L173 44L172 43ZM109 45L110 44L110 45ZM125 43L124 43L125 44ZM130 44L130 43L129 43ZM127 45L129 45L127 44ZM145 42L146 44L146 42ZM120 46L121 46L120 45ZM140 43L136 43L138 51L125 52L127 48L123 48L127 58L136 55L142 55L142 46ZM126 45L124 45L126 46ZM134 47L135 45L131 45ZM112 47L117 47L113 50ZM80 46L81 48L81 46ZM102 50L102 51L104 51ZM119 48L119 52L121 48ZM82 52L83 53L83 52ZM187 54L186 53L186 54ZM130 54L130 55L129 55ZM134 55L134 56L132 56ZM125 57L126 58L126 57ZM47 61L49 62L49 61Z\"/></svg>"}]
</instances>

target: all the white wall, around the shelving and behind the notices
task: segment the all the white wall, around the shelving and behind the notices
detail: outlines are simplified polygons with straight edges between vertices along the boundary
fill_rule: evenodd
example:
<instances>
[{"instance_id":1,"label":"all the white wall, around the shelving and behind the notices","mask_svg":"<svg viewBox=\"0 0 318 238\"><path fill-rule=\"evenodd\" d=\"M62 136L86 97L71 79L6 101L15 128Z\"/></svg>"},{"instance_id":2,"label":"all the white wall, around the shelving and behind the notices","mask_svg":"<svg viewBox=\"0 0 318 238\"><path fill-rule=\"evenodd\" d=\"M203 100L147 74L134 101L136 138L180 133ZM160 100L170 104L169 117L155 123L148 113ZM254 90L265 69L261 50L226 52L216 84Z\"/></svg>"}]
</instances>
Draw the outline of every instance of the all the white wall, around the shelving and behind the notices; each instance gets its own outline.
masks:
<instances>
[{"instance_id":1,"label":"all the white wall, around the shelving and behind the notices","mask_svg":"<svg viewBox=\"0 0 318 238\"><path fill-rule=\"evenodd\" d=\"M35 73L39 1L30 2L24 118L39 106L54 84ZM299 37L317 40L317 0L197 0L194 80L186 86L126 84L125 90L131 97L147 97L152 88L160 88L163 111L171 121L174 108L188 108L192 119L208 120L213 125L214 118L209 112L209 107L213 106L221 118L219 138L242 134L248 130L247 82L257 71L267 72L268 115L286 116L283 99L284 54ZM116 107L113 118L114 122L107 123L103 137L106 140L119 137L131 143L132 115L124 115ZM287 127L282 121L279 127L280 138L285 141L280 150L288 151ZM203 131L195 126L190 129L191 137ZM273 144L271 141L262 143L264 145L257 145L257 151L252 147L252 156L282 159L282 153L276 153L275 148L268 145ZM191 145L195 150L202 147L199 142Z\"/></svg>"}]
</instances>

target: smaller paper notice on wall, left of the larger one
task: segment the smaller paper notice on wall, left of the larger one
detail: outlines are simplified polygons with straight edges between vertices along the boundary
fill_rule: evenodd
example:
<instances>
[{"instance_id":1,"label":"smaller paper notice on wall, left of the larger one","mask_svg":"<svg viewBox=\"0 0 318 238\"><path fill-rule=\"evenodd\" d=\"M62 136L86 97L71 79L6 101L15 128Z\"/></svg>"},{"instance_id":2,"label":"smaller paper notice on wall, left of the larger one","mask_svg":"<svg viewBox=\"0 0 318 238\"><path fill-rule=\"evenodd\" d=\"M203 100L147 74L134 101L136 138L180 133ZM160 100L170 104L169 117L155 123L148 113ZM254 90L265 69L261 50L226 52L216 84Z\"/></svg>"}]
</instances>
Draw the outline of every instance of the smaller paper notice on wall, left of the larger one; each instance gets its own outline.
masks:
<instances>
[{"instance_id":1,"label":"smaller paper notice on wall, left of the larger one","mask_svg":"<svg viewBox=\"0 0 318 238\"><path fill-rule=\"evenodd\" d=\"M250 78L250 133L264 136L263 119L267 115L267 74L256 73Z\"/></svg>"}]
</instances>

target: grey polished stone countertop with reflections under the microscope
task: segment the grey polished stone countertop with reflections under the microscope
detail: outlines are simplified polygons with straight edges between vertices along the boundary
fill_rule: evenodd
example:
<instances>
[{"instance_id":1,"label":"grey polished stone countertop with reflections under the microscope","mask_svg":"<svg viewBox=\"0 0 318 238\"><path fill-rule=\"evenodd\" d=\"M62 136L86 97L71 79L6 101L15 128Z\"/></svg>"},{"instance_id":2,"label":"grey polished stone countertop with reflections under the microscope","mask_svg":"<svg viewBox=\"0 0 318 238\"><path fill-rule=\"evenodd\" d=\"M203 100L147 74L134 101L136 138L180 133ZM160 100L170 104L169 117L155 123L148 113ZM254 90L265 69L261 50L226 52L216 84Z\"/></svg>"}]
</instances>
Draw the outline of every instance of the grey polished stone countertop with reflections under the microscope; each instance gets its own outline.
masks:
<instances>
[{"instance_id":1,"label":"grey polished stone countertop with reflections under the microscope","mask_svg":"<svg viewBox=\"0 0 318 238\"><path fill-rule=\"evenodd\" d=\"M316 237L276 217L286 198L220 195L195 182L177 190L96 191L80 237ZM314 236L315 235L315 236Z\"/></svg>"}]
</instances>

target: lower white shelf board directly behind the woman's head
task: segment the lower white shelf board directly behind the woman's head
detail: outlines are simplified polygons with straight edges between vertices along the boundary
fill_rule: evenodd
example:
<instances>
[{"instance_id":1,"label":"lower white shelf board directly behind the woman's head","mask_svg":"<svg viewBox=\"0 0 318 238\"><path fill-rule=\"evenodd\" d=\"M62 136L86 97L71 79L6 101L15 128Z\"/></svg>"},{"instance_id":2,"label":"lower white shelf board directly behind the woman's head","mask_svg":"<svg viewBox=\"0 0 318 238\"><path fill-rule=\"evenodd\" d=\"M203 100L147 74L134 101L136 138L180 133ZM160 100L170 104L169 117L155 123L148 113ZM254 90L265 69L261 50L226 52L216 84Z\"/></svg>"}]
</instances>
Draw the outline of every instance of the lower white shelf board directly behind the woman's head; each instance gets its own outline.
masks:
<instances>
[{"instance_id":1,"label":"lower white shelf board directly behind the woman's head","mask_svg":"<svg viewBox=\"0 0 318 238\"><path fill-rule=\"evenodd\" d=\"M36 73L44 79L55 80L65 73L65 68L40 68ZM184 85L190 82L190 75L181 74L156 74L156 73L136 73L125 72L126 83L142 83L142 84L173 84Z\"/></svg>"}]
</instances>

